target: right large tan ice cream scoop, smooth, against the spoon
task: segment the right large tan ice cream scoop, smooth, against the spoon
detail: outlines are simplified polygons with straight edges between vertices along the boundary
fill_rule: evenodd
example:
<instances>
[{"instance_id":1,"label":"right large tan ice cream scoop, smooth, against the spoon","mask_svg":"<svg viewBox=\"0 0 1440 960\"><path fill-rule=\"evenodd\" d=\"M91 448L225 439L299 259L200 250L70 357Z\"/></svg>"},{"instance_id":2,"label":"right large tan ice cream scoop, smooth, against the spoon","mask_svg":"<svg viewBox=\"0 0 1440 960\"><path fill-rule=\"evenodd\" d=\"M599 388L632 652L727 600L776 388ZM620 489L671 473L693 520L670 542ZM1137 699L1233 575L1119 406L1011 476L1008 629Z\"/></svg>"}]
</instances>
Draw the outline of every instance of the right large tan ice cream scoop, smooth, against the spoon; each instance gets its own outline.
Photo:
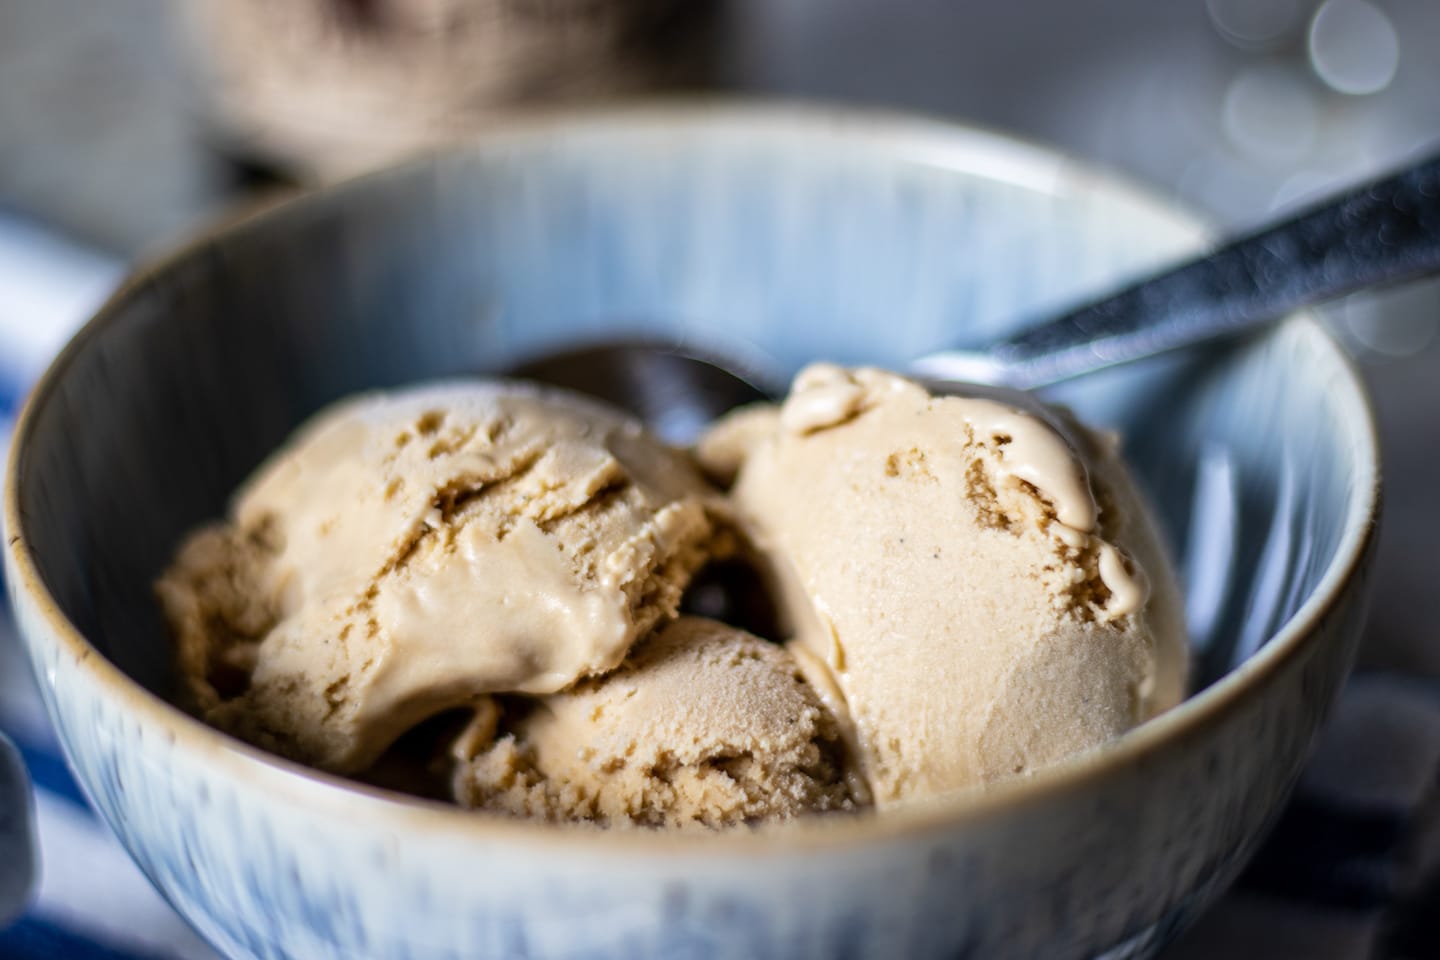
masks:
<instances>
[{"instance_id":1,"label":"right large tan ice cream scoop, smooth, against the spoon","mask_svg":"<svg viewBox=\"0 0 1440 960\"><path fill-rule=\"evenodd\" d=\"M1086 450L994 402L816 364L701 445L737 475L877 805L1032 771L1182 697L1159 541L1113 443L1076 430Z\"/></svg>"}]
</instances>

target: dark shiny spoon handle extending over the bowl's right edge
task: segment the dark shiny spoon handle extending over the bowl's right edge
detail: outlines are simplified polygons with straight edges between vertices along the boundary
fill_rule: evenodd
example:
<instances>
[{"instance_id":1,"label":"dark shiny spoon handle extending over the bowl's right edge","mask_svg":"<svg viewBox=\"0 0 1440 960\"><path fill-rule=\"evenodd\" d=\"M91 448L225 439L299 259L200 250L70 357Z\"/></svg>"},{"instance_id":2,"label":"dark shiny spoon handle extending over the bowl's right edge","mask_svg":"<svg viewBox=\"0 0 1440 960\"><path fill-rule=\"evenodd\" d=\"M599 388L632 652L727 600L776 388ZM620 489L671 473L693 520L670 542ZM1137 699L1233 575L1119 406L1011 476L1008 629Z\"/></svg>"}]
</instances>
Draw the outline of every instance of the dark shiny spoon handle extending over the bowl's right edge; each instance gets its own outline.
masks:
<instances>
[{"instance_id":1,"label":"dark shiny spoon handle extending over the bowl's right edge","mask_svg":"<svg viewBox=\"0 0 1440 960\"><path fill-rule=\"evenodd\" d=\"M1038 387L1237 334L1362 286L1440 272L1440 154L1279 226L995 344L1005 381Z\"/></svg>"}]
</instances>

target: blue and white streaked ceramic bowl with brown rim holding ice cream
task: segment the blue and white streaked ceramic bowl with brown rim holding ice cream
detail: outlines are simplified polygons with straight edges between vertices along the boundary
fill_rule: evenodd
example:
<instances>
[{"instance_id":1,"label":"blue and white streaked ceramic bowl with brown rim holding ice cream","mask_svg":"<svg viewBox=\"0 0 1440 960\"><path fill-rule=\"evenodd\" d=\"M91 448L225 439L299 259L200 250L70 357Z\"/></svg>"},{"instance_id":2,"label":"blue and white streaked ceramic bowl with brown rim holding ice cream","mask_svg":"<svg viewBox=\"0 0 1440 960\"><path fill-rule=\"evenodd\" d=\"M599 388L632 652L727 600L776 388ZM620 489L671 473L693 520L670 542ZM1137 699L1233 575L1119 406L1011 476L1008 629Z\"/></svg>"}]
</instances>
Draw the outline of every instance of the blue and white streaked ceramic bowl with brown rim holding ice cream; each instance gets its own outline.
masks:
<instances>
[{"instance_id":1,"label":"blue and white streaked ceramic bowl with brown rim holding ice cream","mask_svg":"<svg viewBox=\"0 0 1440 960\"><path fill-rule=\"evenodd\" d=\"M981 799L672 836L351 787L164 701L150 581L301 417L361 387L615 331L776 374L903 364L1201 236L1011 141L736 107L541 122L233 225L117 295L17 429L6 570L71 761L236 957L1148 956L1251 852L1356 642L1375 436L1309 320L1058 394L1128 438L1208 687Z\"/></svg>"}]
</instances>

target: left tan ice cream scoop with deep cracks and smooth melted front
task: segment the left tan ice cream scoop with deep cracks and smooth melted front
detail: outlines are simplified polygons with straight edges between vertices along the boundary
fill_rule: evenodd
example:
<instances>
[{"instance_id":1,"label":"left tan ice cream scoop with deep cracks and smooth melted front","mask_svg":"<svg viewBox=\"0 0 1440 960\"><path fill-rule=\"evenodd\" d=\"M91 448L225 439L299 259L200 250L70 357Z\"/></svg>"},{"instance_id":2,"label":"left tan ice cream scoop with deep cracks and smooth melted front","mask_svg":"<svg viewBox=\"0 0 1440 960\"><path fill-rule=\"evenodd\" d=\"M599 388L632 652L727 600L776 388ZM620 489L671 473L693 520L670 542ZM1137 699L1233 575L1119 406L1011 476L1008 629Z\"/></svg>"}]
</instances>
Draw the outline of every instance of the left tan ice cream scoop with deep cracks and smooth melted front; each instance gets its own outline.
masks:
<instances>
[{"instance_id":1,"label":"left tan ice cream scoop with deep cracks and smooth melted front","mask_svg":"<svg viewBox=\"0 0 1440 960\"><path fill-rule=\"evenodd\" d=\"M320 413L157 586L192 707L327 770L429 715L618 666L713 551L690 461L510 383Z\"/></svg>"}]
</instances>

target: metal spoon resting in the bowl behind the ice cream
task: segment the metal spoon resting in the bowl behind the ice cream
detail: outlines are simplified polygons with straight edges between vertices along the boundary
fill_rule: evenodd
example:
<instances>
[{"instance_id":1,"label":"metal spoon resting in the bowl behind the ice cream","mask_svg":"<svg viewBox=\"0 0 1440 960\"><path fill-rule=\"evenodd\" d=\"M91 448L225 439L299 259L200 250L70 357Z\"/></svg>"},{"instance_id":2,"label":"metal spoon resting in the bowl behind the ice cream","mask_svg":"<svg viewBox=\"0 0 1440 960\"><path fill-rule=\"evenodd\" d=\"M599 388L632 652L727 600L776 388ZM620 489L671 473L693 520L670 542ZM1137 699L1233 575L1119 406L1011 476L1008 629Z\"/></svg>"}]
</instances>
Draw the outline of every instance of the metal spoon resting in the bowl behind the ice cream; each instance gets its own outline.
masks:
<instances>
[{"instance_id":1,"label":"metal spoon resting in the bowl behind the ice cream","mask_svg":"<svg viewBox=\"0 0 1440 960\"><path fill-rule=\"evenodd\" d=\"M1246 233L986 350L920 357L943 393L1038 410L1025 390L1266 327L1355 289L1440 272L1440 154ZM770 384L677 344L622 341L540 357L511 371L599 396L661 436L694 439Z\"/></svg>"}]
</instances>

